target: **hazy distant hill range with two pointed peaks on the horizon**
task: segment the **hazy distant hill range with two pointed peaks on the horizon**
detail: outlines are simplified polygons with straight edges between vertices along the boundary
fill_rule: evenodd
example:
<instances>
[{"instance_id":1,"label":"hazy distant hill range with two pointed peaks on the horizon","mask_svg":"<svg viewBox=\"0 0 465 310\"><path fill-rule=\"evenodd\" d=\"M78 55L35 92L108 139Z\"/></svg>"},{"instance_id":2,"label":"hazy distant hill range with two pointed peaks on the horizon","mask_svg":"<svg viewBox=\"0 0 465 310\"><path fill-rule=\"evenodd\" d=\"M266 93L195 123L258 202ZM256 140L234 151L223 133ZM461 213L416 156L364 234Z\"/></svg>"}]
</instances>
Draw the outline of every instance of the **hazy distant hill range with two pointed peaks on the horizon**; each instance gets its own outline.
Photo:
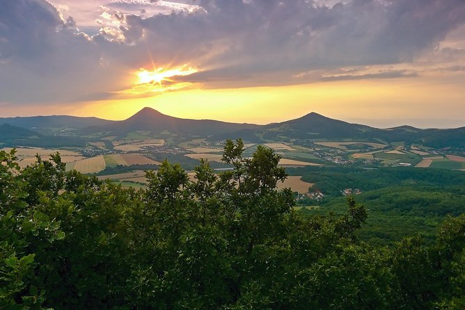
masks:
<instances>
[{"instance_id":1,"label":"hazy distant hill range with two pointed peaks on the horizon","mask_svg":"<svg viewBox=\"0 0 465 310\"><path fill-rule=\"evenodd\" d=\"M60 136L68 135L65 145L83 145L86 139L99 139L105 136L127 136L129 133L143 132L145 136L166 138L176 137L178 140L187 138L207 138L212 141L226 138L242 138L250 142L289 141L290 139L352 139L373 142L407 142L418 143L434 148L465 149L465 127L459 129L417 129L410 126L391 129L377 129L361 124L351 124L333 120L317 113L310 113L295 120L272 123L267 125L236 124L216 120L187 120L164 115L152 108L141 111L122 121L102 120L97 117L71 116L38 116L0 118L1 124L22 127L27 131L15 129L24 136L35 136L44 133L47 138L54 136L55 142ZM6 139L10 127L1 127L0 142L14 144L20 137ZM11 134L11 133L10 133ZM86 138L84 138L86 137ZM31 138L32 139L32 138ZM29 140L31 140L29 139ZM37 139L36 139L37 140ZM47 140L47 139L40 139ZM22 139L22 142L28 141ZM38 142L38 141L36 141ZM36 145L34 145L36 146Z\"/></svg>"}]
</instances>

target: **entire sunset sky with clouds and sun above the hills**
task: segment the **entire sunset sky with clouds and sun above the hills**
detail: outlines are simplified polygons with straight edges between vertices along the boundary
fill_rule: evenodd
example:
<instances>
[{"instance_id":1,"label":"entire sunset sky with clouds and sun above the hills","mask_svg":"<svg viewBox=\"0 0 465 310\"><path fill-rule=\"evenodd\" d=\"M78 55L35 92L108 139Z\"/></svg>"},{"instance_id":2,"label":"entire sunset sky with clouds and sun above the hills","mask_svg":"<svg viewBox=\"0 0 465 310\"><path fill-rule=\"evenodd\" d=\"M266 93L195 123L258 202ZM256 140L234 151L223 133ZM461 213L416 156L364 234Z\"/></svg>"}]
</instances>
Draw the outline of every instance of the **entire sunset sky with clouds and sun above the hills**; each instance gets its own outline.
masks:
<instances>
[{"instance_id":1,"label":"entire sunset sky with clouds and sun above the hills","mask_svg":"<svg viewBox=\"0 0 465 310\"><path fill-rule=\"evenodd\" d=\"M465 126L465 0L0 0L0 117Z\"/></svg>"}]
</instances>

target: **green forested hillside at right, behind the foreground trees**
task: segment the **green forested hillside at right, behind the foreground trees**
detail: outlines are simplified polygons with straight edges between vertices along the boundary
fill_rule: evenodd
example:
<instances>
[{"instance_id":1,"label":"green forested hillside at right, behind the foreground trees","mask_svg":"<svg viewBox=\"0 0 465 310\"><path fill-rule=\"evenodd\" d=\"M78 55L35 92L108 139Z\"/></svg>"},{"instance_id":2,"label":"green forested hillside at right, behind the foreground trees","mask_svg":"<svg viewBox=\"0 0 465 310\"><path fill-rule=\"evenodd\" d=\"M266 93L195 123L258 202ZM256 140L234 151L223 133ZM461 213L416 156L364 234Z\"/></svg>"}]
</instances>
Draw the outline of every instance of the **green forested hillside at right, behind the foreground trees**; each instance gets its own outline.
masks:
<instances>
[{"instance_id":1,"label":"green forested hillside at right, behind the foreground trees","mask_svg":"<svg viewBox=\"0 0 465 310\"><path fill-rule=\"evenodd\" d=\"M315 183L324 199L306 199L309 215L343 214L344 189L358 190L357 202L368 208L368 220L357 236L370 244L392 245L412 234L431 244L447 215L465 213L465 174L461 171L419 168L307 167L290 174Z\"/></svg>"}]
</instances>

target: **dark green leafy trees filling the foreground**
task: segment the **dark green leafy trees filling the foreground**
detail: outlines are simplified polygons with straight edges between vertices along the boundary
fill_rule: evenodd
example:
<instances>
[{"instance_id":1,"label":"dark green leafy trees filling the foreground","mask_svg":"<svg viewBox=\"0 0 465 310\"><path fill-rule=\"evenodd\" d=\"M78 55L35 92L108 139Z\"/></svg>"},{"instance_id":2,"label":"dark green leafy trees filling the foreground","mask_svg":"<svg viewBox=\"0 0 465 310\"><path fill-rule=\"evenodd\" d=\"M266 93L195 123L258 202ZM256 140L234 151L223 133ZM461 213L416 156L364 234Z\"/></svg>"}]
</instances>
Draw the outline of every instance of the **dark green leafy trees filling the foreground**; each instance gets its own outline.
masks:
<instances>
[{"instance_id":1,"label":"dark green leafy trees filling the foreground","mask_svg":"<svg viewBox=\"0 0 465 310\"><path fill-rule=\"evenodd\" d=\"M464 309L464 214L368 245L362 204L295 211L279 156L243 150L195 181L164 161L139 191L0 152L0 309Z\"/></svg>"}]
</instances>

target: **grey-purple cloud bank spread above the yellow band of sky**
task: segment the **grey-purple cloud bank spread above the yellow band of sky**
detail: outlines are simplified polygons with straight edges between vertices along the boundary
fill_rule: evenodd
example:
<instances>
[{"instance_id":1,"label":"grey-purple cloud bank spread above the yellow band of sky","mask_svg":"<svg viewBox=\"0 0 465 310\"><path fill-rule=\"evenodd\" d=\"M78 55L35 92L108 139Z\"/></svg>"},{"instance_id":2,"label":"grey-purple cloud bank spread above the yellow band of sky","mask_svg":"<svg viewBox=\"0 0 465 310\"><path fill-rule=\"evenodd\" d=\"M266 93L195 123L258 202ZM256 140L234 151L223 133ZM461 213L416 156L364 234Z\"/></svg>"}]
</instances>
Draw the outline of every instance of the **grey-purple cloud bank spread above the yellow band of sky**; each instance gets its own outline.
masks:
<instances>
[{"instance_id":1,"label":"grey-purple cloud bank spread above the yellow band of sky","mask_svg":"<svg viewBox=\"0 0 465 310\"><path fill-rule=\"evenodd\" d=\"M130 97L139 68L187 65L198 72L175 81L228 88L439 74L460 69L465 55L463 31L454 32L465 24L463 0L0 0L0 8L2 102ZM399 64L407 67L368 70Z\"/></svg>"}]
</instances>

